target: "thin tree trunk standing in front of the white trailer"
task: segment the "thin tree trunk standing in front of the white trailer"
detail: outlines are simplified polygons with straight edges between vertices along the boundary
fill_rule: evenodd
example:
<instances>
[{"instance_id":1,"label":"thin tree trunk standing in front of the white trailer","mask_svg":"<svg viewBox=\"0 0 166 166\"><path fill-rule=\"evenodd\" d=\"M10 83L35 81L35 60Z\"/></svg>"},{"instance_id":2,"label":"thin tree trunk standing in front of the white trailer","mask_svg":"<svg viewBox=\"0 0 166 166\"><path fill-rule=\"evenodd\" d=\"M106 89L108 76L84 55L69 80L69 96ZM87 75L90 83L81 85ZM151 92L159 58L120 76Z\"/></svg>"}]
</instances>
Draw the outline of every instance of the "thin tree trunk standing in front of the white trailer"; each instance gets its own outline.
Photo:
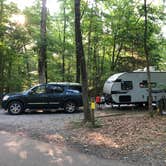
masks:
<instances>
[{"instance_id":1,"label":"thin tree trunk standing in front of the white trailer","mask_svg":"<svg viewBox=\"0 0 166 166\"><path fill-rule=\"evenodd\" d=\"M152 111L152 87L151 87L151 75L150 75L150 59L149 59L149 52L147 48L147 28L148 28L148 19L147 19L147 2L144 0L144 14L145 14L145 30L144 30L144 51L146 56L146 64L147 64L147 78L148 78L148 89L149 89L149 97L148 97L148 106L149 111Z\"/></svg>"}]
</instances>

